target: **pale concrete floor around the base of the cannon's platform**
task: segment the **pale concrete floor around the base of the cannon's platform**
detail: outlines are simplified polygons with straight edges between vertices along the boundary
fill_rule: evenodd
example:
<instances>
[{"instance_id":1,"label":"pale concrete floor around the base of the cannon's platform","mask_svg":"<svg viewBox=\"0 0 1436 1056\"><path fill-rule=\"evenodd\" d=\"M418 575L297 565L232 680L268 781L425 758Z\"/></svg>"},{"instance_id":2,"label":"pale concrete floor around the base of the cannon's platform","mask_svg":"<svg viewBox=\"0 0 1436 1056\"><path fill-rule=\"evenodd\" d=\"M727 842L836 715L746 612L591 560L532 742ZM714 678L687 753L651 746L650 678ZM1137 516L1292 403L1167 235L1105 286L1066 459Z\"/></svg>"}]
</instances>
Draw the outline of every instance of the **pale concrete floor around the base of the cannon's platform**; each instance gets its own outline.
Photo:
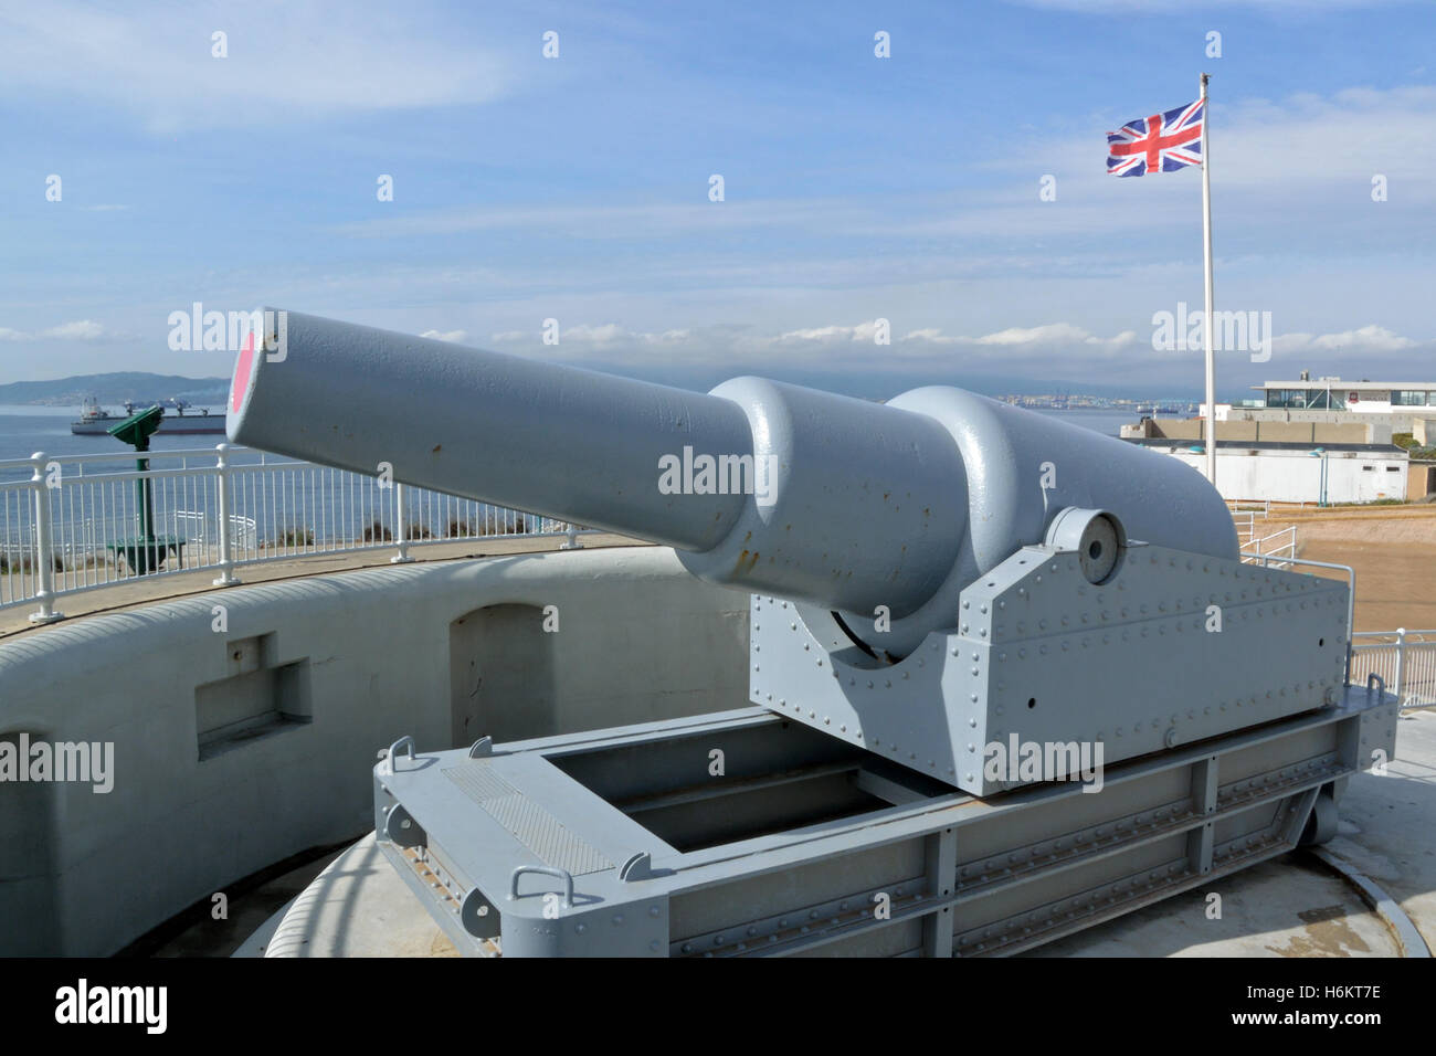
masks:
<instances>
[{"instance_id":1,"label":"pale concrete floor around the base of the cannon's platform","mask_svg":"<svg viewBox=\"0 0 1436 1056\"><path fill-rule=\"evenodd\" d=\"M1383 888L1436 947L1436 710L1409 713L1384 776L1361 773L1327 849ZM1208 914L1221 895L1221 917ZM1357 889L1295 851L1028 957L1397 957L1386 921ZM339 855L236 957L457 957L373 835Z\"/></svg>"}]
</instances>

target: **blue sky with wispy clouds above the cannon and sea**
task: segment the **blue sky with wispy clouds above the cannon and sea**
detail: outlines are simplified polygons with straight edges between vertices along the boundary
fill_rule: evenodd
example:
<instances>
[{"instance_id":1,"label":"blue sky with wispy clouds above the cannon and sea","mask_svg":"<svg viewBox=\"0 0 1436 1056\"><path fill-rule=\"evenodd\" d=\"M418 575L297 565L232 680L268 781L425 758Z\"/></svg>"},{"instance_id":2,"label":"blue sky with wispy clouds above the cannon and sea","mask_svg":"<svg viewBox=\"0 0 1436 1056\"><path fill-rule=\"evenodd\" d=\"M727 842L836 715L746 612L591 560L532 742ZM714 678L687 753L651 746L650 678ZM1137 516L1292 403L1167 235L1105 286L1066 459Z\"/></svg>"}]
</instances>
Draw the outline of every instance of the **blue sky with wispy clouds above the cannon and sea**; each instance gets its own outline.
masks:
<instances>
[{"instance_id":1,"label":"blue sky with wispy clouds above the cannon and sea","mask_svg":"<svg viewBox=\"0 0 1436 1056\"><path fill-rule=\"evenodd\" d=\"M1275 333L1219 389L1433 379L1433 30L1432 0L9 4L0 381L224 375L167 346L202 302L691 386L1198 392L1152 316L1200 306L1200 174L1113 180L1104 134L1202 70L1218 307Z\"/></svg>"}]
</instances>

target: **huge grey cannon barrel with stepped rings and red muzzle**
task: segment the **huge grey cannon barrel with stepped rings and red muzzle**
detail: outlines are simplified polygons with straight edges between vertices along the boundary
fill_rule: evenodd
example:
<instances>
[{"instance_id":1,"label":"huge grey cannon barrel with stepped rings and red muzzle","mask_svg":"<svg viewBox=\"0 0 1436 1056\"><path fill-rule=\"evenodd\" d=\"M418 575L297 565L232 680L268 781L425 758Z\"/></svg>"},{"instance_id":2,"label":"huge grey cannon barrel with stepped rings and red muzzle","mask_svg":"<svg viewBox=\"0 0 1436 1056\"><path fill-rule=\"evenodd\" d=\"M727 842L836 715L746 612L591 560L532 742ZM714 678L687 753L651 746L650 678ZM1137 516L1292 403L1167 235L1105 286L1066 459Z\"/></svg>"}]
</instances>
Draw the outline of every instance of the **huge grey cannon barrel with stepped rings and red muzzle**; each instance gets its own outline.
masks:
<instances>
[{"instance_id":1,"label":"huge grey cannon barrel with stepped rings and red muzzle","mask_svg":"<svg viewBox=\"0 0 1436 1056\"><path fill-rule=\"evenodd\" d=\"M906 651L1067 507L1236 555L1183 463L956 388L886 404L761 378L709 394L267 309L230 440L675 547L695 575L890 619Z\"/></svg>"}]
</instances>

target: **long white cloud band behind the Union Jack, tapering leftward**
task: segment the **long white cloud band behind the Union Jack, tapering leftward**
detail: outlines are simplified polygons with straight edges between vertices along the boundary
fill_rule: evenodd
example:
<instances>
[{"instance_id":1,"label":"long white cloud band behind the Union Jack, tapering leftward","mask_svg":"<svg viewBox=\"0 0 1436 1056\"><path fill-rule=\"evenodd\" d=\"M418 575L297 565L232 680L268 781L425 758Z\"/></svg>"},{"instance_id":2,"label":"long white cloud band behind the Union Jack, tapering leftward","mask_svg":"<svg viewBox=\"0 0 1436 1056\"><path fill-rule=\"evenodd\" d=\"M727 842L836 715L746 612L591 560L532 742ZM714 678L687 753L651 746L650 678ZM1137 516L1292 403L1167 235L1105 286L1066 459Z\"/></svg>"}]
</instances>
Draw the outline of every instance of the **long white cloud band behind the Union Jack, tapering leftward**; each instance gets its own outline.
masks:
<instances>
[{"instance_id":1,"label":"long white cloud band behind the Union Jack, tapering leftward","mask_svg":"<svg viewBox=\"0 0 1436 1056\"><path fill-rule=\"evenodd\" d=\"M1090 270L1091 240L1110 244L1116 233L1163 238L1173 231L1192 231L1200 224L1200 180L1196 170L1114 180L1103 168L1103 132L1136 116L1142 106L1176 105L1180 99L1133 99L1103 119L1088 118L1080 134L1034 138L1004 151L999 161L978 167L997 174L985 187L961 194L906 195L902 201L859 197L811 200L755 200L708 203L584 203L561 207L530 204L484 205L435 210L401 217L383 217L337 224L332 230L350 237L404 238L468 231L530 231L533 238L570 238L577 243L671 243L688 246L728 233L748 237L752 231L811 236L817 238L910 240L920 251L882 259L860 259L866 276L875 270L925 267L935 240L961 250L958 261L989 260L1012 269L1024 260L1014 241L1031 260L1040 249L1044 270L1066 267L1081 257L1078 267ZM1275 231L1268 241L1290 244L1292 236L1281 226L1310 236L1310 216L1318 213L1335 244L1341 231L1373 238L1387 217L1413 216L1436 207L1436 86L1404 86L1386 91L1348 88L1328 96L1300 93L1281 101L1261 98L1213 102L1212 155L1218 251L1231 231L1249 236ZM1338 144L1340 148L1334 148ZM1054 161L1061 159L1061 161ZM1057 200L1041 201L1041 177L1057 177ZM1371 201L1371 180L1384 175L1389 201ZM695 195L698 191L695 191ZM1425 214L1422 214L1425 216ZM1384 236L1383 236L1384 237ZM1034 247L1031 240L1038 240ZM1080 251L1073 249L1080 247ZM1404 251L1404 244L1383 241L1377 250ZM1320 250L1318 250L1320 251ZM1109 257L1110 259L1110 257ZM1130 260L1130 256L1129 256ZM804 261L806 267L831 270L831 261ZM751 266L751 264L745 264ZM761 261L757 267L781 272L787 260ZM722 261L705 256L695 270L717 273ZM860 270L862 270L860 269ZM665 260L666 274L684 273L684 266ZM966 270L966 269L965 269ZM810 270L803 274L810 274ZM952 272L949 270L949 274ZM605 276L610 273L605 269Z\"/></svg>"}]
</instances>

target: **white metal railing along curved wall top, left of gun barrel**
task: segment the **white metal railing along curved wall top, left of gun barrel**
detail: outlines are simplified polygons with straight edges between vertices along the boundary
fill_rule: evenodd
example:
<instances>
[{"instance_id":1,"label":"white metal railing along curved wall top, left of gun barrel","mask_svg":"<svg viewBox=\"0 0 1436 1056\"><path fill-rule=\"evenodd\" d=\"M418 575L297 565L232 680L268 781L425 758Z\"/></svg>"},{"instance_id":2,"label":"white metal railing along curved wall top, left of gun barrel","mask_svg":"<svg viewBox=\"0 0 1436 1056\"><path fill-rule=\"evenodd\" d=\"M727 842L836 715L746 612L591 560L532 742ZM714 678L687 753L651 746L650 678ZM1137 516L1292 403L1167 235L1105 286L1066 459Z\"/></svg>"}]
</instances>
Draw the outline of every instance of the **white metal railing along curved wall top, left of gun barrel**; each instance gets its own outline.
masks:
<instances>
[{"instance_id":1,"label":"white metal railing along curved wall top, left of gun barrel","mask_svg":"<svg viewBox=\"0 0 1436 1056\"><path fill-rule=\"evenodd\" d=\"M220 444L215 448L0 461L0 609L134 576L237 568L307 555L409 549L484 536L566 534L574 524L381 477ZM148 519L148 532L144 523ZM145 542L141 542L145 540Z\"/></svg>"}]
</instances>

